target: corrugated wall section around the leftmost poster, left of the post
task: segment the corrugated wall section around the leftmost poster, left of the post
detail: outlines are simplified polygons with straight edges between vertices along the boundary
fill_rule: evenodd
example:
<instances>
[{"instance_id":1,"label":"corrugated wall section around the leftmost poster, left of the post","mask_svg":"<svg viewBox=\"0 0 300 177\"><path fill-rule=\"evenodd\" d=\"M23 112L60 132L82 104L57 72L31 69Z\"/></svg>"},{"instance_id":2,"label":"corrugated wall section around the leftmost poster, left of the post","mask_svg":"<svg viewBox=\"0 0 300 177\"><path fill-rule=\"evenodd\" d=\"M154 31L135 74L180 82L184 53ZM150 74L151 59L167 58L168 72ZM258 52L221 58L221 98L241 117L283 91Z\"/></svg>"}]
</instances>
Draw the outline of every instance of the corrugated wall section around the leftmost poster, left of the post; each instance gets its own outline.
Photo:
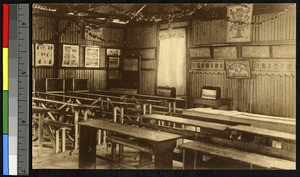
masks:
<instances>
[{"instance_id":1,"label":"corrugated wall section around the leftmost poster, left of the post","mask_svg":"<svg viewBox=\"0 0 300 177\"><path fill-rule=\"evenodd\" d=\"M45 16L32 16L32 42L54 43L55 19ZM34 55L34 54L32 54ZM34 62L34 61L33 61ZM32 77L38 83L40 79L57 77L57 70L54 67L32 66ZM38 86L38 85L37 85Z\"/></svg>"}]
</instances>

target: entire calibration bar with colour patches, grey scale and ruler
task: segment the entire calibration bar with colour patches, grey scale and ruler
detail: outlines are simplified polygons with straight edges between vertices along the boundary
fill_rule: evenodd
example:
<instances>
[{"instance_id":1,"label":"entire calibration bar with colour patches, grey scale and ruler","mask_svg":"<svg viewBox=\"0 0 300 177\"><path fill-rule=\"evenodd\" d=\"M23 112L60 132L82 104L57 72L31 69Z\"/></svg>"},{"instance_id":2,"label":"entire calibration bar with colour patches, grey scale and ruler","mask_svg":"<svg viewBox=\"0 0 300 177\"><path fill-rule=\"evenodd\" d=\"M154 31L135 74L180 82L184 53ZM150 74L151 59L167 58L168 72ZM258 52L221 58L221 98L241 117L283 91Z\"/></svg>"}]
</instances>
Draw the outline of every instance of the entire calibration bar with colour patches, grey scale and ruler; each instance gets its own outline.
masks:
<instances>
[{"instance_id":1,"label":"entire calibration bar with colour patches, grey scale and ruler","mask_svg":"<svg viewBox=\"0 0 300 177\"><path fill-rule=\"evenodd\" d=\"M29 4L3 4L3 175L29 174Z\"/></svg>"}]
</instances>

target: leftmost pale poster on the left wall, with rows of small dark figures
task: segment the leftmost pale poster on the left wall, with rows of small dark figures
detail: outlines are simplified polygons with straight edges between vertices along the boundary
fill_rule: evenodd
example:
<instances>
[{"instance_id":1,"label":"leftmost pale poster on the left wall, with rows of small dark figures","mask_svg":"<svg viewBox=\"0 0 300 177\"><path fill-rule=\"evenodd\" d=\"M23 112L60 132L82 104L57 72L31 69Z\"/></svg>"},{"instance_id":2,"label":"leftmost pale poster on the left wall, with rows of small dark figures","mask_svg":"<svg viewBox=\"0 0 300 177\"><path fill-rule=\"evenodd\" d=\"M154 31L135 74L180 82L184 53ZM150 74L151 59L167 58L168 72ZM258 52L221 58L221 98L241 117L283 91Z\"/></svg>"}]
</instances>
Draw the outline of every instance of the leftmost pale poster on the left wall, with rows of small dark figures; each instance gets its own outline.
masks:
<instances>
[{"instance_id":1,"label":"leftmost pale poster on the left wall, with rows of small dark figures","mask_svg":"<svg viewBox=\"0 0 300 177\"><path fill-rule=\"evenodd\" d=\"M35 44L35 66L54 65L54 44Z\"/></svg>"}]
</instances>

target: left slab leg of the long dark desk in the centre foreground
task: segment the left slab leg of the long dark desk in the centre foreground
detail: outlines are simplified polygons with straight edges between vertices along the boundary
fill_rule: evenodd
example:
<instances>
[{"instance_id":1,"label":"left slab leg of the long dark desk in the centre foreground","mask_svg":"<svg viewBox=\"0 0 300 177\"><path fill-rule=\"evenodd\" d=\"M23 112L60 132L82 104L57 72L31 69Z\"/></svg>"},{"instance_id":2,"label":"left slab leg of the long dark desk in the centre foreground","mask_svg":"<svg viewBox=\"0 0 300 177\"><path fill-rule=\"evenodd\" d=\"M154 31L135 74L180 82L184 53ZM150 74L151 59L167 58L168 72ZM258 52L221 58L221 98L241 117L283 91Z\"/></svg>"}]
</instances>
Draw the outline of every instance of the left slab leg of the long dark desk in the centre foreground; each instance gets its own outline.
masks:
<instances>
[{"instance_id":1,"label":"left slab leg of the long dark desk in the centre foreground","mask_svg":"<svg viewBox=\"0 0 300 177\"><path fill-rule=\"evenodd\" d=\"M96 168L97 129L80 126L79 169Z\"/></svg>"}]
</instances>

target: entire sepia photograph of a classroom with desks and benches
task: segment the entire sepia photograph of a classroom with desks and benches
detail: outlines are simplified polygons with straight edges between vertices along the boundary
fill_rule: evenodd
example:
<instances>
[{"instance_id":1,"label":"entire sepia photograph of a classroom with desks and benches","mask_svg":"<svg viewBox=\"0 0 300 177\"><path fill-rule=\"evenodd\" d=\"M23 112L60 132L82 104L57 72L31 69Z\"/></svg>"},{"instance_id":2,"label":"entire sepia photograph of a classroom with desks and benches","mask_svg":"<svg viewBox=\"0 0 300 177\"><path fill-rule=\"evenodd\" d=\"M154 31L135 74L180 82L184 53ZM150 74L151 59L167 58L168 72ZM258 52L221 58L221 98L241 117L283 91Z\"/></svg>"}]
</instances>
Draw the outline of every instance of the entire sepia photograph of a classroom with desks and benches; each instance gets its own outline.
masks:
<instances>
[{"instance_id":1,"label":"entire sepia photograph of a classroom with desks and benches","mask_svg":"<svg viewBox=\"0 0 300 177\"><path fill-rule=\"evenodd\" d=\"M296 169L296 4L34 3L33 169Z\"/></svg>"}]
</instances>

